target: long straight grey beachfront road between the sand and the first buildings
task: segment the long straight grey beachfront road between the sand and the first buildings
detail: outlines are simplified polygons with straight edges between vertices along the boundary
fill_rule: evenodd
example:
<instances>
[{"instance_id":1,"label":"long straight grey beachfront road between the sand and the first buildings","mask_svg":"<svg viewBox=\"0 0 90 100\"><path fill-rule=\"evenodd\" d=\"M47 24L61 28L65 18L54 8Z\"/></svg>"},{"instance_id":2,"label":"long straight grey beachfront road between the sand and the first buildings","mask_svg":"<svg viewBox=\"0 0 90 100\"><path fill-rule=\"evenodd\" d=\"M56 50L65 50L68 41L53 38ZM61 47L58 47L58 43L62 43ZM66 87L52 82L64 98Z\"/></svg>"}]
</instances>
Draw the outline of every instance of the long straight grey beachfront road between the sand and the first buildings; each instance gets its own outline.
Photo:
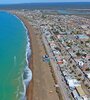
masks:
<instances>
[{"instance_id":1,"label":"long straight grey beachfront road between the sand and the first buildings","mask_svg":"<svg viewBox=\"0 0 90 100\"><path fill-rule=\"evenodd\" d=\"M68 94L69 92L66 89L67 86L66 86L64 79L62 77L62 73L59 69L59 65L57 64L55 56L53 56L53 52L51 51L49 43L48 43L46 36L44 34L42 34L42 40L44 42L47 54L50 57L50 64L51 64L51 67L54 70L55 79L57 81L57 86L58 86L57 88L59 89L59 95L62 96L63 100L74 100L74 99L69 98L70 94Z\"/></svg>"}]
</instances>

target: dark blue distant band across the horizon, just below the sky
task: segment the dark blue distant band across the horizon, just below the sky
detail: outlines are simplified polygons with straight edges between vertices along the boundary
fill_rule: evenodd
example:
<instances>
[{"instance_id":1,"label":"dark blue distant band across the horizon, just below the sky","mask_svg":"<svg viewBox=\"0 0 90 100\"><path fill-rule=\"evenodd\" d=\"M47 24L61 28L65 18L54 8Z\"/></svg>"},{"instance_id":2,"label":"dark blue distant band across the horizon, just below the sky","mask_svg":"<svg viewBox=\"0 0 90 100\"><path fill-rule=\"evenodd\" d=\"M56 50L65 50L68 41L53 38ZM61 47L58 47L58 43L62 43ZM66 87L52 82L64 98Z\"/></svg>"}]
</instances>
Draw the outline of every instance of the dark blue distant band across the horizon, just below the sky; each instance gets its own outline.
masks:
<instances>
[{"instance_id":1,"label":"dark blue distant band across the horizon, just below the sky","mask_svg":"<svg viewBox=\"0 0 90 100\"><path fill-rule=\"evenodd\" d=\"M68 10L68 9L90 9L90 2L54 2L54 3L23 3L0 5L0 9L49 9L49 10Z\"/></svg>"}]
</instances>

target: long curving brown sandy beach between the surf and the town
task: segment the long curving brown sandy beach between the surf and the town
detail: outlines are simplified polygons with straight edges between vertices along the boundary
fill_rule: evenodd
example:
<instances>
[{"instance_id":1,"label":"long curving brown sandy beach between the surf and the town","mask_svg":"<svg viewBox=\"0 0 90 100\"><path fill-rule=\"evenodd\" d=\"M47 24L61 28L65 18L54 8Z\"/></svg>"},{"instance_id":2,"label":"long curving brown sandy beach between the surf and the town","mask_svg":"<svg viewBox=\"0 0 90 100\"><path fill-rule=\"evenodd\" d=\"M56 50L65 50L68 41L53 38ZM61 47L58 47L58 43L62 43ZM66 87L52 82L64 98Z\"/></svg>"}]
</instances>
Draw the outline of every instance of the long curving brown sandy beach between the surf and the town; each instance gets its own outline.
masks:
<instances>
[{"instance_id":1,"label":"long curving brown sandy beach between the surf and the town","mask_svg":"<svg viewBox=\"0 0 90 100\"><path fill-rule=\"evenodd\" d=\"M26 25L31 42L30 69L33 78L27 89L27 100L59 100L49 64L42 61L46 54L39 31L23 16L17 15Z\"/></svg>"}]
</instances>

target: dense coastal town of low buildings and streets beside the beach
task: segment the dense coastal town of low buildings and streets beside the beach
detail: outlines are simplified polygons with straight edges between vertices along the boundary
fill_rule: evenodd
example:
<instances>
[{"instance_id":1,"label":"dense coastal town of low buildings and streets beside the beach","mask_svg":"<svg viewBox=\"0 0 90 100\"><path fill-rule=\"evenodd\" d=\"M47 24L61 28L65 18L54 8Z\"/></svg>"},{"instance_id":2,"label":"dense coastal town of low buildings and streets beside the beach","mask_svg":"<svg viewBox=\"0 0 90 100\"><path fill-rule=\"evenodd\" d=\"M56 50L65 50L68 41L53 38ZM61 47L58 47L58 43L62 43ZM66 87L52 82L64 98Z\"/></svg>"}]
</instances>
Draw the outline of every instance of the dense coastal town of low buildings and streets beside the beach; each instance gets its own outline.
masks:
<instances>
[{"instance_id":1,"label":"dense coastal town of low buildings and streets beside the beach","mask_svg":"<svg viewBox=\"0 0 90 100\"><path fill-rule=\"evenodd\" d=\"M11 10L38 29L63 100L90 100L90 19L46 10ZM49 84L49 83L48 83ZM61 99L60 99L61 100Z\"/></svg>"}]
</instances>

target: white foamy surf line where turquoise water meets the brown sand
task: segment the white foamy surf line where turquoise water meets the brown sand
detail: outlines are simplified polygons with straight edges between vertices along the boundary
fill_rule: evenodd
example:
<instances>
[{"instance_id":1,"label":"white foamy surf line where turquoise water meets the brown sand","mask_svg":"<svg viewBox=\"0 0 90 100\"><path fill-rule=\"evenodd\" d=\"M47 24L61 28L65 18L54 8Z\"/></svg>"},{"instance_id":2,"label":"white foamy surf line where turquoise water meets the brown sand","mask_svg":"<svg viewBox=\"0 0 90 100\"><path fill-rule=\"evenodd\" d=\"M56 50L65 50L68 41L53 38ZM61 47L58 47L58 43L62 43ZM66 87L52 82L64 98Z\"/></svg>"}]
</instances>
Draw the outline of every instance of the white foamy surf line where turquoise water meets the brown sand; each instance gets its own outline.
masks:
<instances>
[{"instance_id":1,"label":"white foamy surf line where turquoise water meets the brown sand","mask_svg":"<svg viewBox=\"0 0 90 100\"><path fill-rule=\"evenodd\" d=\"M21 100L26 100L26 88L28 87L30 81L32 80L32 72L29 68L29 60L30 60L30 55L31 55L31 49L30 49L30 39L29 39L29 32L28 29L26 28L25 24L23 23L23 21L17 17L16 15L14 15L18 20L20 20L20 22L22 23L23 27L26 30L26 35L27 35L27 46L26 46L26 63L27 66L25 67L24 73L22 74L22 80L23 80L23 86L24 86L24 91L21 97ZM24 78L24 74L26 74L26 78Z\"/></svg>"}]
</instances>

